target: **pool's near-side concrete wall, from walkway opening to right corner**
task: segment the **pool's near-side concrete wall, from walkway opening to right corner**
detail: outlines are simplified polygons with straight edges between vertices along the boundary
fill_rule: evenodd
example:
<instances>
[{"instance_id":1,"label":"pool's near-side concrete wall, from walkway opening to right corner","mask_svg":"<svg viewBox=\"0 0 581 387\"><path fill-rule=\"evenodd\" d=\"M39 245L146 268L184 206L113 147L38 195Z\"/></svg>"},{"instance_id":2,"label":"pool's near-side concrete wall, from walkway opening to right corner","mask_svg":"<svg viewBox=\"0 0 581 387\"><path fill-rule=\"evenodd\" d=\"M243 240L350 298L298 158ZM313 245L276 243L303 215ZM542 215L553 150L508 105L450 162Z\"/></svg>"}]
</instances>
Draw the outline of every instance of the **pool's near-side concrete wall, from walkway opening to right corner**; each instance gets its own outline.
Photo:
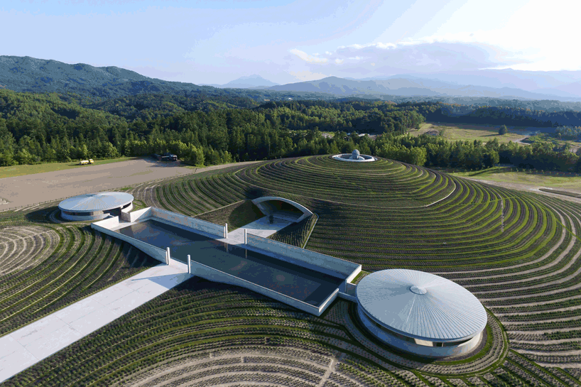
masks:
<instances>
[{"instance_id":1,"label":"pool's near-side concrete wall, from walkway opening to right corner","mask_svg":"<svg viewBox=\"0 0 581 387\"><path fill-rule=\"evenodd\" d=\"M256 293L266 295L267 297L273 298L274 300L277 301L281 301L286 305L291 305L299 310L303 310L304 312L308 312L315 316L320 316L322 312L325 311L327 306L329 306L330 303L337 297L337 290L335 290L335 293L332 293L332 295L330 295L330 297L327 298L327 300L325 300L325 302L323 302L320 307L315 307L314 305L310 305L300 300L295 300L294 298L288 297L287 295L283 295L274 290L264 288L261 285L256 285L255 283L251 283L247 280L237 278L228 273L216 270L215 268L210 268L208 266L202 265L202 263L198 263L195 261L190 261L190 273L192 274L192 276L198 276L219 283L229 283L230 285L237 285L240 286L241 288L252 290Z\"/></svg>"}]
</instances>

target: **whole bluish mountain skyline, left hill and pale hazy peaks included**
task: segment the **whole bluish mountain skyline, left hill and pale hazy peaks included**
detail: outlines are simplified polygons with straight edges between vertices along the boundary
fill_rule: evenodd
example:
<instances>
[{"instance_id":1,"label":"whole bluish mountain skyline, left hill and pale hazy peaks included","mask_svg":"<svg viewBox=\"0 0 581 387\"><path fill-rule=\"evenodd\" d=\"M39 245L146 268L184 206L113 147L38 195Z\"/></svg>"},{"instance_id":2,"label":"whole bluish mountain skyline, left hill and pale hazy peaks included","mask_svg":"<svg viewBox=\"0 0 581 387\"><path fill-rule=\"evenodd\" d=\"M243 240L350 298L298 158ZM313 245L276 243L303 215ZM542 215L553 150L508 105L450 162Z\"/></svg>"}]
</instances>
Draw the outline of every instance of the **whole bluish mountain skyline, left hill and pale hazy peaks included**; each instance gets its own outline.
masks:
<instances>
[{"instance_id":1,"label":"whole bluish mountain skyline, left hill and pale hazy peaks included","mask_svg":"<svg viewBox=\"0 0 581 387\"><path fill-rule=\"evenodd\" d=\"M222 95L222 89L234 88L238 89L237 95L256 100L288 97L329 99L333 96L391 99L401 96L581 101L581 71L479 70L421 76L391 75L364 80L326 77L286 85L251 75L225 85L194 85L145 77L119 67L69 65L28 56L0 56L0 88L3 87L16 92L74 92L104 98L161 92Z\"/></svg>"}]
</instances>

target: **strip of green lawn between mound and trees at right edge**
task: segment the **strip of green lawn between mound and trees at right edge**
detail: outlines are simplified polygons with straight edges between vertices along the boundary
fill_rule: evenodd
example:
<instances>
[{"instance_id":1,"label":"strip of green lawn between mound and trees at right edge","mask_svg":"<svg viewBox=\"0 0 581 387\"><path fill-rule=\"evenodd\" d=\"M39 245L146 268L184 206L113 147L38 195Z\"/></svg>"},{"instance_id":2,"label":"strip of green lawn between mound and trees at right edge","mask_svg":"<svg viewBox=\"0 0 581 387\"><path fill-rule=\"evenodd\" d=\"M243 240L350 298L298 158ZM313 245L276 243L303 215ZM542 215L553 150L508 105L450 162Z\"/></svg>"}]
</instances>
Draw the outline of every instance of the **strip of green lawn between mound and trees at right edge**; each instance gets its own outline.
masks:
<instances>
[{"instance_id":1,"label":"strip of green lawn between mound and trees at right edge","mask_svg":"<svg viewBox=\"0 0 581 387\"><path fill-rule=\"evenodd\" d=\"M455 172L450 175L461 178L475 178L497 182L526 184L537 187L567 188L581 192L581 176L536 174L531 172L512 172L513 168L494 167L486 170Z\"/></svg>"}]
</instances>

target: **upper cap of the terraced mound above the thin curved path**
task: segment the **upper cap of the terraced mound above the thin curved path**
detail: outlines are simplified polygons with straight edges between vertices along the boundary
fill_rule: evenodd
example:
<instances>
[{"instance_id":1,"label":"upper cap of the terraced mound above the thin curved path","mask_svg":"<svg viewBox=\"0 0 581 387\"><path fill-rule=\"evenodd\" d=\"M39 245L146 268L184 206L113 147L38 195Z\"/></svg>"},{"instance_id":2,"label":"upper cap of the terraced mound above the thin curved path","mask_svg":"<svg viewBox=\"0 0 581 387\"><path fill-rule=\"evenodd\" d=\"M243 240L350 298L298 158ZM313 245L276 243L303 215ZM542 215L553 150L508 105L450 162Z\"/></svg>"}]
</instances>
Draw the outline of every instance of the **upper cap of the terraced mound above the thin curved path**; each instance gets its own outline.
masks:
<instances>
[{"instance_id":1,"label":"upper cap of the terraced mound above the thin curved path","mask_svg":"<svg viewBox=\"0 0 581 387\"><path fill-rule=\"evenodd\" d=\"M253 165L235 175L246 185L266 191L293 192L300 197L330 202L360 205L364 202L371 207L428 205L454 188L445 175L384 159L355 164L352 170L320 166L327 163L337 161L329 156L281 160ZM374 173L368 173L369 170Z\"/></svg>"}]
</instances>

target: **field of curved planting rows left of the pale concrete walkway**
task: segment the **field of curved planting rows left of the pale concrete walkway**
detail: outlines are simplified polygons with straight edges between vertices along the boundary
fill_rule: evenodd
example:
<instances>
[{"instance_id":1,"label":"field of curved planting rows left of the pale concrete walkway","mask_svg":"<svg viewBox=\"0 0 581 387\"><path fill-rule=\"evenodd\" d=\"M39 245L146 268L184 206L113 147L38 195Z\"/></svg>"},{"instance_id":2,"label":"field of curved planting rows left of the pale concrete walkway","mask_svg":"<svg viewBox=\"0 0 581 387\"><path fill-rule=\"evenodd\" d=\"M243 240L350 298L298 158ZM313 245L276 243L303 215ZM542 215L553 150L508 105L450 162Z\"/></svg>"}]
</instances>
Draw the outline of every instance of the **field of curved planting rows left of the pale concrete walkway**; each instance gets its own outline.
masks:
<instances>
[{"instance_id":1,"label":"field of curved planting rows left of the pale concrete walkway","mask_svg":"<svg viewBox=\"0 0 581 387\"><path fill-rule=\"evenodd\" d=\"M88 225L48 223L54 212L47 205L0 218L0 335L155 264Z\"/></svg>"}]
</instances>

